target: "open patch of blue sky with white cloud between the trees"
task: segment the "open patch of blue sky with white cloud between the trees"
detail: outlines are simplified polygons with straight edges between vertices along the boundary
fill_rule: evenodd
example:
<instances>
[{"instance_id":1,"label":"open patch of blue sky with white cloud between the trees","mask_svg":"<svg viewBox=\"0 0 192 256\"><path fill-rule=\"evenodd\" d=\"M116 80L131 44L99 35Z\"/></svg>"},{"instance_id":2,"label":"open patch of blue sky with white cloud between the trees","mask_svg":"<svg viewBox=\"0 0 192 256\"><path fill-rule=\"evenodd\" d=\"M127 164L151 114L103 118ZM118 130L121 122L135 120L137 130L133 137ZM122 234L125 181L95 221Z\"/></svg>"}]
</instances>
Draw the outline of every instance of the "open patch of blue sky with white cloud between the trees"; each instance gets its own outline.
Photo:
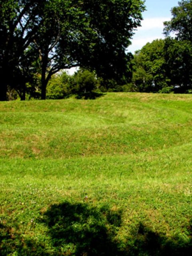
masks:
<instances>
[{"instance_id":1,"label":"open patch of blue sky with white cloud between the trees","mask_svg":"<svg viewBox=\"0 0 192 256\"><path fill-rule=\"evenodd\" d=\"M147 10L143 12L142 26L135 31L128 52L134 53L147 42L164 38L163 22L170 20L171 8L178 6L178 0L146 0L145 5Z\"/></svg>"}]
</instances>

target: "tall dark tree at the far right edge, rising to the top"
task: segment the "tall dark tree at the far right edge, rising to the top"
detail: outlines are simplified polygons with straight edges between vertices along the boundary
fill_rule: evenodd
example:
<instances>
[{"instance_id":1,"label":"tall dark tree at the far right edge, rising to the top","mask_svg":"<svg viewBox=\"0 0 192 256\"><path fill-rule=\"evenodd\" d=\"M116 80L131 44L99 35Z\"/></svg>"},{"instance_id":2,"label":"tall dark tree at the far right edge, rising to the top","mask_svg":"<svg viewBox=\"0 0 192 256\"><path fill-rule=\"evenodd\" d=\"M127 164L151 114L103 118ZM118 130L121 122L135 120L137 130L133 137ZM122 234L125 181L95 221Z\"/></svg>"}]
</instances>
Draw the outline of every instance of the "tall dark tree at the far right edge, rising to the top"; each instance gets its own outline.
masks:
<instances>
[{"instance_id":1,"label":"tall dark tree at the far right edge, rising to the top","mask_svg":"<svg viewBox=\"0 0 192 256\"><path fill-rule=\"evenodd\" d=\"M166 63L172 84L179 92L192 89L192 0L182 0L164 22Z\"/></svg>"}]
</instances>

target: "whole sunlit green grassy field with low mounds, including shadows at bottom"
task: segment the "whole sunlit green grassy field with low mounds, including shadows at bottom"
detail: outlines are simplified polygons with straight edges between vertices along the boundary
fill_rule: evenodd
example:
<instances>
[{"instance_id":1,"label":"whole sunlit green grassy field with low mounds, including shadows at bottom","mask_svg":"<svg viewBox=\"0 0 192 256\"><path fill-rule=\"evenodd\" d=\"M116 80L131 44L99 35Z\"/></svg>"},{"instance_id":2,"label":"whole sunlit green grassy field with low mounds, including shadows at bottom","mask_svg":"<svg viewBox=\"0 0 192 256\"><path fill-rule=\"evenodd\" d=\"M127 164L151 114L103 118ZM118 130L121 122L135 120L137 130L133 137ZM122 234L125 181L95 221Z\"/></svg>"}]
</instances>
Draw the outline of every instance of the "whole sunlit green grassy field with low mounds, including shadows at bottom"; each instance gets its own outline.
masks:
<instances>
[{"instance_id":1,"label":"whole sunlit green grassy field with low mounds, including shadows at bottom","mask_svg":"<svg viewBox=\"0 0 192 256\"><path fill-rule=\"evenodd\" d=\"M192 251L192 95L0 102L0 255Z\"/></svg>"}]
</instances>

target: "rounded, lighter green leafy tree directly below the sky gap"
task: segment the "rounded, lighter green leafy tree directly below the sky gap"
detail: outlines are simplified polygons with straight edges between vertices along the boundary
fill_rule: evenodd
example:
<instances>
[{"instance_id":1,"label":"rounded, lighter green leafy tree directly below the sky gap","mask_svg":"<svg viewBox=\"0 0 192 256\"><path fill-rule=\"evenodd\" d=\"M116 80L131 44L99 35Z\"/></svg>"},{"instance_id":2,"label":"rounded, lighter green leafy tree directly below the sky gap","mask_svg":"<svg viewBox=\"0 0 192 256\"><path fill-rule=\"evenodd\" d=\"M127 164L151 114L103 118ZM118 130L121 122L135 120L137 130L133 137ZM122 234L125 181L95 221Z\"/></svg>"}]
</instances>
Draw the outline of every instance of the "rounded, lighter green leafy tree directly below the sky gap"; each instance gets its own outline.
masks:
<instances>
[{"instance_id":1,"label":"rounded, lighter green leafy tree directly below the sky gap","mask_svg":"<svg viewBox=\"0 0 192 256\"><path fill-rule=\"evenodd\" d=\"M133 60L132 84L139 92L158 92L168 86L164 40L154 40L137 51Z\"/></svg>"}]
</instances>

